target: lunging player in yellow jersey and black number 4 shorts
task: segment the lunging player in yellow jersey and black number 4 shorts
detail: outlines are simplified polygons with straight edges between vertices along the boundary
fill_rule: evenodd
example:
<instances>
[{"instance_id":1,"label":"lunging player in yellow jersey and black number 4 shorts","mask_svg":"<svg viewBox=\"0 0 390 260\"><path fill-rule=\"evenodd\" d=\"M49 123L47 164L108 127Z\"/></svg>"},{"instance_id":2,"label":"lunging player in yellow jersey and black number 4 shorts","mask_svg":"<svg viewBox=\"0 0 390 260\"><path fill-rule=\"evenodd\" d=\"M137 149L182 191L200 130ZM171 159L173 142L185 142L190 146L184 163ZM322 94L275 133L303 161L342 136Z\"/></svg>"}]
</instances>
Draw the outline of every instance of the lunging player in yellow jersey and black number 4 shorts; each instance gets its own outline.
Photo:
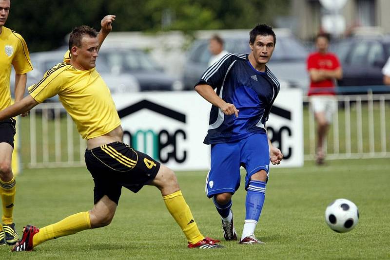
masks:
<instances>
[{"instance_id":1,"label":"lunging player in yellow jersey and black number 4 shorts","mask_svg":"<svg viewBox=\"0 0 390 260\"><path fill-rule=\"evenodd\" d=\"M114 19L115 16L108 15L102 20L106 32L111 31ZM106 226L114 217L122 187L136 193L145 185L160 190L164 204L184 233L189 248L222 247L216 240L200 233L175 173L122 142L123 129L114 101L95 70L98 47L98 32L85 25L76 27L69 36L70 63L59 63L47 71L42 80L29 88L29 96L0 111L0 120L10 118L58 94L78 131L87 139L85 164L95 184L91 210L42 228L26 225L22 239L12 251L31 251L45 241Z\"/></svg>"}]
</instances>

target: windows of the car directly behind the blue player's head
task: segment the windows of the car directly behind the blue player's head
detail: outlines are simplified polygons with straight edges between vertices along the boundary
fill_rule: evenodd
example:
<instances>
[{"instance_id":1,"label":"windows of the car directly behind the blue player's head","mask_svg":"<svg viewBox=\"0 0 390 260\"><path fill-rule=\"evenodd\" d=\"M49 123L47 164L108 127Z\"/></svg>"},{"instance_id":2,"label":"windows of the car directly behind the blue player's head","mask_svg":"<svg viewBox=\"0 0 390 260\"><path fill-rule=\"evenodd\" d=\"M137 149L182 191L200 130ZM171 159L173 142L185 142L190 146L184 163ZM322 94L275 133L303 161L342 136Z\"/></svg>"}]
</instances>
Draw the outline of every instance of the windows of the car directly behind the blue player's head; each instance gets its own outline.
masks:
<instances>
[{"instance_id":1,"label":"windows of the car directly behind the blue player's head","mask_svg":"<svg viewBox=\"0 0 390 260\"><path fill-rule=\"evenodd\" d=\"M225 38L225 49L230 53L250 53L249 39ZM199 63L207 63L211 57L208 49L209 41L206 39L195 42L190 58ZM276 40L276 48L271 61L304 60L307 51L301 43L292 37L280 37Z\"/></svg>"}]
</instances>

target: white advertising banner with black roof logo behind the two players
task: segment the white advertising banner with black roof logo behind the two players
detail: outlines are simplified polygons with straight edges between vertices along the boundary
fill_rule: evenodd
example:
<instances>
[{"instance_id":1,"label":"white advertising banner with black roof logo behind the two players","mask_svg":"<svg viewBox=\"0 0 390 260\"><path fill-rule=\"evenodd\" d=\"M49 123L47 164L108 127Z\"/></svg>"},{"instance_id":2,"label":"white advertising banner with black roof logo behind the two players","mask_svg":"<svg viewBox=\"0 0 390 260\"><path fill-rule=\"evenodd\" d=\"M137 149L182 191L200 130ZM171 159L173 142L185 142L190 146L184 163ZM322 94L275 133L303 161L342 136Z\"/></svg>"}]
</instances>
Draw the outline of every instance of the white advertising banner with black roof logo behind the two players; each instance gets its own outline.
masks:
<instances>
[{"instance_id":1,"label":"white advertising banner with black roof logo behind the two players","mask_svg":"<svg viewBox=\"0 0 390 260\"><path fill-rule=\"evenodd\" d=\"M113 98L125 143L174 170L209 169L210 146L203 139L211 104L198 93L121 93ZM267 127L273 144L285 153L280 166L303 165L302 93L281 92L272 112Z\"/></svg>"}]
</instances>

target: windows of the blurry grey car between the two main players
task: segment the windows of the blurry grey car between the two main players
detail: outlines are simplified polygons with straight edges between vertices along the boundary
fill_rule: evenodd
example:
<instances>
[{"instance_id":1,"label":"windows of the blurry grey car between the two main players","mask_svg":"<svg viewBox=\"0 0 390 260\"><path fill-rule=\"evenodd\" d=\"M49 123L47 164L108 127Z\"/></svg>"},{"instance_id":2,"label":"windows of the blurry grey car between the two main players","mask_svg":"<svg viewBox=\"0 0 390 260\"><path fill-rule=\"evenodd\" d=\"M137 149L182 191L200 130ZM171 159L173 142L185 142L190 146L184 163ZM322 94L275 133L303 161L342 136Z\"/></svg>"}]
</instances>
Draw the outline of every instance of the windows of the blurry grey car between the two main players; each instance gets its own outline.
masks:
<instances>
[{"instance_id":1,"label":"windows of the blurry grey car between the two main players","mask_svg":"<svg viewBox=\"0 0 390 260\"><path fill-rule=\"evenodd\" d=\"M156 71L152 58L139 50L101 51L96 64L99 72Z\"/></svg>"}]
</instances>

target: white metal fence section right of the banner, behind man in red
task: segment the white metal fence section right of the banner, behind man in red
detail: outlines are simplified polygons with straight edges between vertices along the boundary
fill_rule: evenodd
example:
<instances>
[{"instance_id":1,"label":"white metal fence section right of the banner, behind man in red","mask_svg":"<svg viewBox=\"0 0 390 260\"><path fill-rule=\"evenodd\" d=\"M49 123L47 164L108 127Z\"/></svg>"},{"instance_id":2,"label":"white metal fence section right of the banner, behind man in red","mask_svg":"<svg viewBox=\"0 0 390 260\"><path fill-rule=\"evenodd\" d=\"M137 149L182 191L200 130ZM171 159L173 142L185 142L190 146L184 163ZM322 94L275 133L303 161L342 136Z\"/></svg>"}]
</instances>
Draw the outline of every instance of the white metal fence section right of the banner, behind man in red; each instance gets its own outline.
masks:
<instances>
[{"instance_id":1,"label":"white metal fence section right of the banner, behind man in red","mask_svg":"<svg viewBox=\"0 0 390 260\"><path fill-rule=\"evenodd\" d=\"M339 95L326 142L327 159L390 157L390 94ZM305 101L308 98L305 97ZM309 104L305 160L314 159L316 126Z\"/></svg>"}]
</instances>

